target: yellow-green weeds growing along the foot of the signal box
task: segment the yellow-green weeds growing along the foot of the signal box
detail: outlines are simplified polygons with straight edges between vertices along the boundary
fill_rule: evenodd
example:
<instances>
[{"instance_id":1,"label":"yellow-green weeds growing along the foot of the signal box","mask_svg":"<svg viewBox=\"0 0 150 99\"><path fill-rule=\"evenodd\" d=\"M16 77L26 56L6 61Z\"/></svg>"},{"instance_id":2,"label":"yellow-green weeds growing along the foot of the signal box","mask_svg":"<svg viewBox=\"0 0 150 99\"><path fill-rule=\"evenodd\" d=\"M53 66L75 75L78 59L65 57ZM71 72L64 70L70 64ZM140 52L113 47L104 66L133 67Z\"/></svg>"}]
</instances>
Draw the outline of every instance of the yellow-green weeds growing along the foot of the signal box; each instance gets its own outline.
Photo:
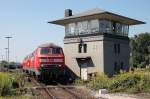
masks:
<instances>
[{"instance_id":1,"label":"yellow-green weeds growing along the foot of the signal box","mask_svg":"<svg viewBox=\"0 0 150 99\"><path fill-rule=\"evenodd\" d=\"M75 85L86 85L92 90L105 88L109 92L150 92L150 70L140 69L134 72L122 72L111 78L101 74L88 82L78 79L75 81Z\"/></svg>"}]
</instances>

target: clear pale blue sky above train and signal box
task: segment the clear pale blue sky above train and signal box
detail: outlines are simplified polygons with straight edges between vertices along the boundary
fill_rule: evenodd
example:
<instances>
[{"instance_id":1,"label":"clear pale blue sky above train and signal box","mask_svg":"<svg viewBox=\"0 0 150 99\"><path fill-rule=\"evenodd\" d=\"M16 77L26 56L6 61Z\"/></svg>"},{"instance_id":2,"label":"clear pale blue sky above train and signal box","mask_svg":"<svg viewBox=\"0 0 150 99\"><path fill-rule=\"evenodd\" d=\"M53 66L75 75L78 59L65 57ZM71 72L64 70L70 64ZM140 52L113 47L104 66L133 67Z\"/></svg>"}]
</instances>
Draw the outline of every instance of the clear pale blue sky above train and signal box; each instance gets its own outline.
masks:
<instances>
[{"instance_id":1,"label":"clear pale blue sky above train and signal box","mask_svg":"<svg viewBox=\"0 0 150 99\"><path fill-rule=\"evenodd\" d=\"M68 8L73 14L100 8L146 22L131 26L129 37L150 32L150 0L0 0L0 60L6 56L6 36L13 37L11 61L21 62L43 43L63 47L64 27L47 22L63 18Z\"/></svg>"}]
</instances>

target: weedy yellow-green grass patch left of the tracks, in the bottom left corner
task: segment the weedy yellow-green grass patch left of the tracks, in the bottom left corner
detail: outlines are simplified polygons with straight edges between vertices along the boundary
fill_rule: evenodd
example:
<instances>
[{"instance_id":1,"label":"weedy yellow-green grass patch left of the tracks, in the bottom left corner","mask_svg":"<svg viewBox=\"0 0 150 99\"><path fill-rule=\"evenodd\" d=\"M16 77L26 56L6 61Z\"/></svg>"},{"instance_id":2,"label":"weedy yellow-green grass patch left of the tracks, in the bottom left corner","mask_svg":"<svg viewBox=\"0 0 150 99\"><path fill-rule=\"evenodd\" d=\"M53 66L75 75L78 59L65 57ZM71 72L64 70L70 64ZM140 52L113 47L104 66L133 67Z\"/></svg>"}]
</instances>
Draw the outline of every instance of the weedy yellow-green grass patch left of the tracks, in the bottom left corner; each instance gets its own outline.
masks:
<instances>
[{"instance_id":1,"label":"weedy yellow-green grass patch left of the tracks, in the bottom left corner","mask_svg":"<svg viewBox=\"0 0 150 99\"><path fill-rule=\"evenodd\" d=\"M28 99L24 88L31 86L25 83L24 74L0 72L0 99Z\"/></svg>"}]
</instances>

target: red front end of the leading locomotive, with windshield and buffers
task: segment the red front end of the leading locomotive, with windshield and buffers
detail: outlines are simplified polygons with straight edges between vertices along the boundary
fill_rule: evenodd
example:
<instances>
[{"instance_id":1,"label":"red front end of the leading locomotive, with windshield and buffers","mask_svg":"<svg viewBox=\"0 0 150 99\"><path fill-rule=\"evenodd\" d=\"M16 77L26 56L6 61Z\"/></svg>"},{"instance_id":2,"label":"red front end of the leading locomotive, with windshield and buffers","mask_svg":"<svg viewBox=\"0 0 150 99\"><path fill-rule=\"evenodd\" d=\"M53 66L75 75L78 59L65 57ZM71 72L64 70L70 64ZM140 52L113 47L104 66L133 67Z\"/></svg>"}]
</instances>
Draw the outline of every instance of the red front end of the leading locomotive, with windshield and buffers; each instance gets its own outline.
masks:
<instances>
[{"instance_id":1,"label":"red front end of the leading locomotive, with windshield and buffers","mask_svg":"<svg viewBox=\"0 0 150 99\"><path fill-rule=\"evenodd\" d=\"M64 53L60 47L41 47L39 54L41 76L59 78L64 70Z\"/></svg>"}]
</instances>

